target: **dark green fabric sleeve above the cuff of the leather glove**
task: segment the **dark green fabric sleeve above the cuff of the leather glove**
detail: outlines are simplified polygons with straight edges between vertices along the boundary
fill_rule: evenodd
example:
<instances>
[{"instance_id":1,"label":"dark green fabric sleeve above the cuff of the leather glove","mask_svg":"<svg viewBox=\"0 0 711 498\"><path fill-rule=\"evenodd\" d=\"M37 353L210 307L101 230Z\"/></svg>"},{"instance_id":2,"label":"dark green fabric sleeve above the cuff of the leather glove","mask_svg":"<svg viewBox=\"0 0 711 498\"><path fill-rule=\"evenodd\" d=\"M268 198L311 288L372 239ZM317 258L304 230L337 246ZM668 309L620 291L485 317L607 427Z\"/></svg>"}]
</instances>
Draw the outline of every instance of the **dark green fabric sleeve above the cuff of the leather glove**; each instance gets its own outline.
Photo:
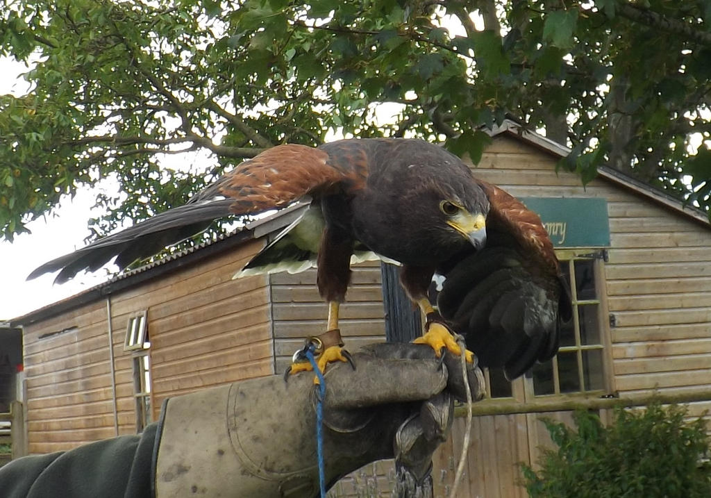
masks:
<instances>
[{"instance_id":1,"label":"dark green fabric sleeve above the cuff of the leather glove","mask_svg":"<svg viewBox=\"0 0 711 498\"><path fill-rule=\"evenodd\" d=\"M151 498L156 424L140 435L67 452L19 458L0 468L3 498Z\"/></svg>"}]
</instances>

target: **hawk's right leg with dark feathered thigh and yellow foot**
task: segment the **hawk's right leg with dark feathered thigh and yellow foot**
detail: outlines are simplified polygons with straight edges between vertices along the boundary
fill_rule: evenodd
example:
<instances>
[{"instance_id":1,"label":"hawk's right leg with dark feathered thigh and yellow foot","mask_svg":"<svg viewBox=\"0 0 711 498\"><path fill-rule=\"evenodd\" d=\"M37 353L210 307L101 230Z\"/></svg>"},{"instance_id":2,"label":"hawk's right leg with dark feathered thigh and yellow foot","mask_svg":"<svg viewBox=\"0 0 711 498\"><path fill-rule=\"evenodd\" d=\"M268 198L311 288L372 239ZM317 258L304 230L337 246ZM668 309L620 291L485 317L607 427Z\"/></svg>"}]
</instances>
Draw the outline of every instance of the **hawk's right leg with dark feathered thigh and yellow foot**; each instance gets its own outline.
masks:
<instances>
[{"instance_id":1,"label":"hawk's right leg with dark feathered thigh and yellow foot","mask_svg":"<svg viewBox=\"0 0 711 498\"><path fill-rule=\"evenodd\" d=\"M427 298L429 283L432 282L434 268L403 265L400 270L400 284L405 289L412 302L417 303L419 309L427 317L424 324L424 334L413 341L415 344L429 344L434 349L437 358L442 356L442 350L447 349L456 356L461 356L461 347L454 339L454 333L444 323L444 319L434 310ZM465 350L466 361L474 362L474 353Z\"/></svg>"}]
</instances>

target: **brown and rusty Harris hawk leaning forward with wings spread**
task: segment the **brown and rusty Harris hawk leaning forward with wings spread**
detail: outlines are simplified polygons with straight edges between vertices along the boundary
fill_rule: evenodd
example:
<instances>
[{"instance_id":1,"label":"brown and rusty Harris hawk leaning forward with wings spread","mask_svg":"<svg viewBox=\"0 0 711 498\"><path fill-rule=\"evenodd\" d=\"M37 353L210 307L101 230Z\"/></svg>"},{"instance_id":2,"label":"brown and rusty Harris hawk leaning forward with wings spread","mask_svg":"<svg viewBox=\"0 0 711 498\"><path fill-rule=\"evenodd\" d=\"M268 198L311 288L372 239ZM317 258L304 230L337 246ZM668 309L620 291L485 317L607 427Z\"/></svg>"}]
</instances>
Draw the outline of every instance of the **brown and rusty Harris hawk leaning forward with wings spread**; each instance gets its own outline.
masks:
<instances>
[{"instance_id":1,"label":"brown and rusty Harris hawk leaning forward with wings spread","mask_svg":"<svg viewBox=\"0 0 711 498\"><path fill-rule=\"evenodd\" d=\"M467 348L482 366L503 366L509 378L557 351L558 328L571 309L540 218L475 179L458 157L417 139L267 149L185 205L45 263L28 278L60 270L55 282L65 282L114 256L124 268L203 231L216 218L297 201L309 201L309 208L236 276L316 265L319 293L328 302L327 331L338 331L352 258L375 254L402 265L400 283L427 317L416 341L430 344L438 356L443 347L461 354L450 327L466 332ZM447 275L442 315L427 297L435 272ZM319 351L321 369L347 359L336 335ZM471 352L466 354L471 361ZM306 369L309 364L294 364L292 373Z\"/></svg>"}]
</instances>

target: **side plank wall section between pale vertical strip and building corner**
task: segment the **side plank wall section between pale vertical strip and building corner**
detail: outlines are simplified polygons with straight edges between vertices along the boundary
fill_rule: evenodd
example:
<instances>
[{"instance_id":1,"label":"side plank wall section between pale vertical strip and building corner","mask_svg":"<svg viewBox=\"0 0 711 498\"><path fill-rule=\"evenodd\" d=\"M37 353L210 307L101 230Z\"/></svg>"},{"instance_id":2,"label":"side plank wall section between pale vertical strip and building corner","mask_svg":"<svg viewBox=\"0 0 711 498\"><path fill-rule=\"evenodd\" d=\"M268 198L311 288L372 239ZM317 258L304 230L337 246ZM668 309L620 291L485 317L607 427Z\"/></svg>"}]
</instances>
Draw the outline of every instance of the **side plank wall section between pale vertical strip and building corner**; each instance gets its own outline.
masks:
<instances>
[{"instance_id":1,"label":"side plank wall section between pale vertical strip and building corner","mask_svg":"<svg viewBox=\"0 0 711 498\"><path fill-rule=\"evenodd\" d=\"M273 373L266 277L232 280L261 246L254 240L112 297L119 433L135 432L124 338L130 314L141 309L148 312L154 420L170 396Z\"/></svg>"}]
</instances>

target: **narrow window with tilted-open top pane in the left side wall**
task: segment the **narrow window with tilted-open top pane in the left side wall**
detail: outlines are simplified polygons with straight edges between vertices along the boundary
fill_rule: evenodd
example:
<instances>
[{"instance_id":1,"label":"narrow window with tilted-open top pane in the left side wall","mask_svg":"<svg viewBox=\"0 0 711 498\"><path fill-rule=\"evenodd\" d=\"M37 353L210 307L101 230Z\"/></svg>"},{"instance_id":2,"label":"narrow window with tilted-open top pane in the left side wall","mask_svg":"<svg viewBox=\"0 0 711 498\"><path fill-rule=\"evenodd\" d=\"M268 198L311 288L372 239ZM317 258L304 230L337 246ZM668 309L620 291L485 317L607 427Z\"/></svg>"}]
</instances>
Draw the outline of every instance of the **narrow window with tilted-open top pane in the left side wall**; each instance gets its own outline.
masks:
<instances>
[{"instance_id":1,"label":"narrow window with tilted-open top pane in the left side wall","mask_svg":"<svg viewBox=\"0 0 711 498\"><path fill-rule=\"evenodd\" d=\"M151 340L146 311L129 317L124 349L132 351L134 399L136 401L136 432L140 433L153 421L151 410Z\"/></svg>"}]
</instances>

